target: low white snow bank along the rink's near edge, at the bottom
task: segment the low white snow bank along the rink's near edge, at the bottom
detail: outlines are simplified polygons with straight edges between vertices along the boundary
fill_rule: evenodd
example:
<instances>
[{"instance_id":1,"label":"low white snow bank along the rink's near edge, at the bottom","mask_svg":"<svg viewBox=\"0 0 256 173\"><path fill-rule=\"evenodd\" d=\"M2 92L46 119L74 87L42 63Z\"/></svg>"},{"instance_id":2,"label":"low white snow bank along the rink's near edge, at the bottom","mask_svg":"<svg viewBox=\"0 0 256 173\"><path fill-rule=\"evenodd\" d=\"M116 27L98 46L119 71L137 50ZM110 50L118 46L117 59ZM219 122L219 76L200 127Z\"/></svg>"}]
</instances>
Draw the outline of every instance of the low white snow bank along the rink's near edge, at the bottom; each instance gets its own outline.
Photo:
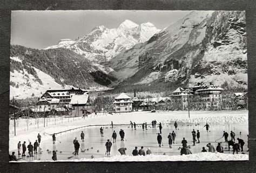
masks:
<instances>
[{"instance_id":1,"label":"low white snow bank along the rink's near edge, at the bottom","mask_svg":"<svg viewBox=\"0 0 256 173\"><path fill-rule=\"evenodd\" d=\"M58 155L57 155L58 158ZM149 161L247 161L247 154L223 154L223 153L197 153L190 155L146 155L146 156L129 156L115 155L112 157L102 158L82 158L80 160L59 160L58 162L149 162ZM13 161L12 161L13 162ZM21 161L26 162L26 161ZM31 162L54 162L54 161L31 161Z\"/></svg>"}]
</instances>

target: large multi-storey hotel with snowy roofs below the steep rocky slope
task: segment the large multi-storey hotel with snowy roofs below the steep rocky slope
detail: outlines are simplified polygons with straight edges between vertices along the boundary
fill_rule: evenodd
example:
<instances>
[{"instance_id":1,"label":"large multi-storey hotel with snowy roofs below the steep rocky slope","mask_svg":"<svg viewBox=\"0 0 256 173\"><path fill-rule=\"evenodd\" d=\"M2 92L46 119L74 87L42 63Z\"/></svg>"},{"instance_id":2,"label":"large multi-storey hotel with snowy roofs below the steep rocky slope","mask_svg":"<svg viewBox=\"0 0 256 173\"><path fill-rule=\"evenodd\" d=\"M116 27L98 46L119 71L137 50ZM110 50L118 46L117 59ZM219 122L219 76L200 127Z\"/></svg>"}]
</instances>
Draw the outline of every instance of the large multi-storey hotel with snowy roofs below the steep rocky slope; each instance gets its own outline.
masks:
<instances>
[{"instance_id":1,"label":"large multi-storey hotel with snowy roofs below the steep rocky slope","mask_svg":"<svg viewBox=\"0 0 256 173\"><path fill-rule=\"evenodd\" d=\"M191 102L196 103L198 107L205 107L205 109L219 110L221 109L221 91L218 85L197 85L188 87L179 87L172 92L171 98L180 100L182 109L187 109Z\"/></svg>"}]
</instances>

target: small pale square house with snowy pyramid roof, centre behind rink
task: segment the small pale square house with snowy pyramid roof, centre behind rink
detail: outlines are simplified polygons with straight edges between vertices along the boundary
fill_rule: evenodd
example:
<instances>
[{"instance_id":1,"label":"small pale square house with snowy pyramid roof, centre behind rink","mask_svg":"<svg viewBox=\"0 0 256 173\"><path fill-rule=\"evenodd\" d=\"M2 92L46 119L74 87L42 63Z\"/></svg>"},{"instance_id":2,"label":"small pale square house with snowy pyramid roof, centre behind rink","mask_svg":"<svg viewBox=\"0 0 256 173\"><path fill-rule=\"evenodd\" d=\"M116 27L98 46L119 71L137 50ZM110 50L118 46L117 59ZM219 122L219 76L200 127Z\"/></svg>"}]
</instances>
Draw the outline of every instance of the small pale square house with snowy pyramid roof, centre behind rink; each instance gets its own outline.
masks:
<instances>
[{"instance_id":1,"label":"small pale square house with snowy pyramid roof, centre behind rink","mask_svg":"<svg viewBox=\"0 0 256 173\"><path fill-rule=\"evenodd\" d=\"M125 93L121 93L118 97L114 98L114 110L118 112L131 112L132 111L132 98Z\"/></svg>"}]
</instances>

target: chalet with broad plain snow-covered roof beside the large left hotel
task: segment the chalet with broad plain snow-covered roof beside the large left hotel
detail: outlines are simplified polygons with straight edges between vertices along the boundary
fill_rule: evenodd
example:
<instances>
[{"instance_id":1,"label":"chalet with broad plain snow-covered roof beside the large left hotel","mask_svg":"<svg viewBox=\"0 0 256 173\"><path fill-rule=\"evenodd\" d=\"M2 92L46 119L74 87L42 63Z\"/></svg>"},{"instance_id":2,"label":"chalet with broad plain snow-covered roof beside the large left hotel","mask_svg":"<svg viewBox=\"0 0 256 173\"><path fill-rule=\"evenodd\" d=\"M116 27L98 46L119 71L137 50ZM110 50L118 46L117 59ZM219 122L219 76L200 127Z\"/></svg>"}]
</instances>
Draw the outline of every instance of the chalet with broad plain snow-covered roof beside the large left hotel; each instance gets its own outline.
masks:
<instances>
[{"instance_id":1,"label":"chalet with broad plain snow-covered roof beside the large left hotel","mask_svg":"<svg viewBox=\"0 0 256 173\"><path fill-rule=\"evenodd\" d=\"M89 103L89 95L73 95L71 98L71 114L72 116L87 116L92 112L91 104Z\"/></svg>"}]
</instances>

